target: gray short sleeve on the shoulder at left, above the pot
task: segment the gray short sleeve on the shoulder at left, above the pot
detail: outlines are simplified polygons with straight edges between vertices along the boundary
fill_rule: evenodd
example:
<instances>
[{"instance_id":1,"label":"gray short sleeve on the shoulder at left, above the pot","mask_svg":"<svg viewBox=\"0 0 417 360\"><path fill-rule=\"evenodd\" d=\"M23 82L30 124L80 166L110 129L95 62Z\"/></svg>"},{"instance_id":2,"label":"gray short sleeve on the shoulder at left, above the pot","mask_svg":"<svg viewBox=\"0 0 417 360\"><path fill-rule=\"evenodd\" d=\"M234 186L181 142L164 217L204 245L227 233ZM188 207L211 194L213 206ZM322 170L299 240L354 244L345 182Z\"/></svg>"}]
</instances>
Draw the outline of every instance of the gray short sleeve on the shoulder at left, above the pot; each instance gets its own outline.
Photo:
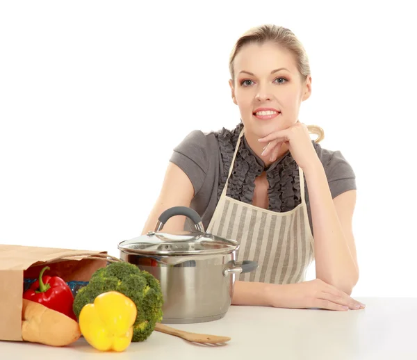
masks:
<instances>
[{"instance_id":1,"label":"gray short sleeve on the shoulder at left, above the pot","mask_svg":"<svg viewBox=\"0 0 417 360\"><path fill-rule=\"evenodd\" d=\"M207 139L202 131L191 131L177 147L170 161L186 173L194 187L194 195L202 188L208 172Z\"/></svg>"}]
</instances>

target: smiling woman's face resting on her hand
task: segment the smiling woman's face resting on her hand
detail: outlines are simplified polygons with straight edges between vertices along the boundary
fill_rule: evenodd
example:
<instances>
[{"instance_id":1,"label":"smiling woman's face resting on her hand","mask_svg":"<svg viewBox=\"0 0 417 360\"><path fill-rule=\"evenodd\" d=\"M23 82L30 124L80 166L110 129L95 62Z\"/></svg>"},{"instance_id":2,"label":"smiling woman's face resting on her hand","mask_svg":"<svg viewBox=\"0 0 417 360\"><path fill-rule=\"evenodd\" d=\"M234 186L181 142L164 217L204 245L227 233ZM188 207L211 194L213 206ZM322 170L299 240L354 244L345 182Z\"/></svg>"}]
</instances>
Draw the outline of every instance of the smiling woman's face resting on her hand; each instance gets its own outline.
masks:
<instances>
[{"instance_id":1,"label":"smiling woman's face resting on her hand","mask_svg":"<svg viewBox=\"0 0 417 360\"><path fill-rule=\"evenodd\" d=\"M311 77L302 81L293 54L272 42L240 49L234 76L233 101L246 135L257 138L295 124L301 102L311 94Z\"/></svg>"}]
</instances>

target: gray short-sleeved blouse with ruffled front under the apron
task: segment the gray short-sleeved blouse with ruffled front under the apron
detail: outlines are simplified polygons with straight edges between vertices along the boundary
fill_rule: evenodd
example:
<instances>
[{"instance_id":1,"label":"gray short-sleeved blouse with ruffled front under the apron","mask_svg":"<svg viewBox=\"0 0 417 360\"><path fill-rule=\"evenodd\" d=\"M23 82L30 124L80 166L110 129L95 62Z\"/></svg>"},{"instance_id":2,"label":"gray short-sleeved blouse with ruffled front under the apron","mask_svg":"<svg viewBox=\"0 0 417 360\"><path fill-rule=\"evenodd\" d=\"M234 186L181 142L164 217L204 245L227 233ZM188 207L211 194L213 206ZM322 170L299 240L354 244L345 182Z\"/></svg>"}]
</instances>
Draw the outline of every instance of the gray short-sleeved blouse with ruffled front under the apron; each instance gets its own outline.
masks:
<instances>
[{"instance_id":1,"label":"gray short-sleeved blouse with ruffled front under the apron","mask_svg":"<svg viewBox=\"0 0 417 360\"><path fill-rule=\"evenodd\" d=\"M204 229L207 229L218 204L242 128L243 125L240 123L233 130L223 128L220 131L209 133L199 130L192 131L174 148L170 158L170 161L178 165L193 183L194 197L190 207L201 216ZM341 152L323 149L316 142L313 142L313 146L325 169L332 197L334 198L347 190L356 190L354 171ZM242 137L238 154L236 154L227 196L251 204L254 179L263 171L266 172L269 183L269 210L291 211L300 204L300 178L297 163L291 153L287 152L275 163L265 167L262 159L247 144L245 136ZM305 179L304 188L306 190L307 213L311 232L313 232ZM190 229L188 222L186 222L186 229Z\"/></svg>"}]
</instances>

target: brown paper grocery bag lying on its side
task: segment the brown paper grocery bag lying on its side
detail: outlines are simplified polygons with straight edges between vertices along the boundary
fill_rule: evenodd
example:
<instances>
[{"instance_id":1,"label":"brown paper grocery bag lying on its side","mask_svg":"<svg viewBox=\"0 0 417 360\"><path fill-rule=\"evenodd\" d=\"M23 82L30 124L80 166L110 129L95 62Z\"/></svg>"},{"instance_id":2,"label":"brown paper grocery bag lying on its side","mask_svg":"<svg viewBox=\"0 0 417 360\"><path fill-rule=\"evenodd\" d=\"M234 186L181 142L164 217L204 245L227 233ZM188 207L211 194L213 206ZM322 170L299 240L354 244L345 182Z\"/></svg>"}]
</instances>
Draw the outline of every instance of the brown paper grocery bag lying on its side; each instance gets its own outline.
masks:
<instances>
[{"instance_id":1,"label":"brown paper grocery bag lying on its side","mask_svg":"<svg viewBox=\"0 0 417 360\"><path fill-rule=\"evenodd\" d=\"M89 281L107 261L120 260L104 251L0 245L0 340L22 341L24 279L37 279L48 265L45 275Z\"/></svg>"}]
</instances>

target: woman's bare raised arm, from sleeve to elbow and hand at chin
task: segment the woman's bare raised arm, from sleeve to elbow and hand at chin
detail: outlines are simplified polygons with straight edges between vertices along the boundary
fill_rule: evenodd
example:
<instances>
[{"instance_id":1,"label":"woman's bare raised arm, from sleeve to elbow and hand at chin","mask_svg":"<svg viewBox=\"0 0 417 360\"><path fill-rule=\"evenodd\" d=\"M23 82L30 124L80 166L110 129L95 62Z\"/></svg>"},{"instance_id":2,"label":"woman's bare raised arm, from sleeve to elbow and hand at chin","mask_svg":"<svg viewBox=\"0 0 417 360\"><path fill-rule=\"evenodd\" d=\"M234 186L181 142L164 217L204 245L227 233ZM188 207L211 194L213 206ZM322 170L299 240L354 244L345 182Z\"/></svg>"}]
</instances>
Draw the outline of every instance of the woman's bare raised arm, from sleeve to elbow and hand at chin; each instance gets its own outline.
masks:
<instances>
[{"instance_id":1,"label":"woman's bare raised arm, from sleeve to elbow and hand at chin","mask_svg":"<svg viewBox=\"0 0 417 360\"><path fill-rule=\"evenodd\" d=\"M356 191L350 190L332 199L325 169L305 124L297 121L288 129L258 140L270 144L263 152L263 156L270 156L270 161L275 161L281 145L286 144L297 165L304 170L313 222L316 277L347 294L352 293L359 279L352 235Z\"/></svg>"}]
</instances>

